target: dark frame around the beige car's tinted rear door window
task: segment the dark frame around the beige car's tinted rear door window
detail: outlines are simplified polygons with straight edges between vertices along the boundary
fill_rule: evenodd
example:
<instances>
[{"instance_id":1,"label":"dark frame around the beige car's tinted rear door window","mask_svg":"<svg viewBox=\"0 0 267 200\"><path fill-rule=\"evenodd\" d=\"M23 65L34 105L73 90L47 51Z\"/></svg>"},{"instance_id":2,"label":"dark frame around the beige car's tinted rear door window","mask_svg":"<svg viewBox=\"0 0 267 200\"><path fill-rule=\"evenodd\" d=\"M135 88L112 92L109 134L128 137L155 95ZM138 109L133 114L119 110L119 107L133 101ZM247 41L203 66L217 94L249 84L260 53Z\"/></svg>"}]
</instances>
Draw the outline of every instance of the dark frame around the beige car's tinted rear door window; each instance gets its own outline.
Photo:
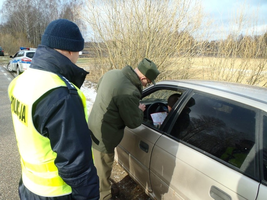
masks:
<instances>
[{"instance_id":1,"label":"dark frame around the beige car's tinted rear door window","mask_svg":"<svg viewBox=\"0 0 267 200\"><path fill-rule=\"evenodd\" d=\"M208 97L211 97L211 98L215 98L215 99L218 99L218 100L222 100L222 101L226 101L228 103L231 103L231 104L234 104L234 105L237 105L237 106L241 106L241 107L244 107L246 109L249 109L249 110L253 110L256 112L256 115L255 115L255 177L249 175L249 174L246 174L245 172L243 172L242 170L238 169L238 168L235 168L233 165L227 163L227 162L224 162L222 161L221 159L219 159L218 157L216 156L213 156L212 154L206 152L206 151L203 151L201 149L199 149L198 147L196 146L193 146L189 143L186 143L185 141L182 141L181 139L178 139L172 135L170 135L170 131L172 130L176 120L178 119L178 116L181 114L181 111L183 110L183 108L185 107L185 105L187 104L187 102L190 100L190 98L193 96L193 94L200 94L200 95L205 95L205 96L208 96ZM203 91L200 91L200 90L192 90L190 92L190 94L188 94L186 100L184 102L180 102L181 106L176 106L175 110L176 112L175 115L172 115L171 118L168 119L168 123L165 124L165 129L164 129L164 134L167 135L168 137L172 138L173 140L179 142L179 143L182 143L188 147L190 147L191 149L194 149L195 151L198 151L210 158L212 158L213 160L241 173L241 174L244 174L245 176L253 179L254 181L257 181L257 182L260 182L261 180L261 177L260 177L260 171L262 172L262 170L259 170L259 165L260 165L260 162L262 160L260 160L259 158L259 152L260 152L260 149L259 149L259 144L260 144L260 135L262 135L262 128L260 128L260 111L258 108L255 108L255 107L252 107L250 105L247 105L247 104L243 104L241 102L238 102L238 101L235 101L235 100L232 100L232 99L227 99L227 98L224 98L223 96L218 96L218 95L213 95L211 93L207 93L207 92L203 92ZM261 123L262 124L262 123ZM263 127L263 126L261 126ZM261 131L261 133L260 133ZM262 141L262 140L261 140ZM262 162L261 162L262 163Z\"/></svg>"}]
</instances>

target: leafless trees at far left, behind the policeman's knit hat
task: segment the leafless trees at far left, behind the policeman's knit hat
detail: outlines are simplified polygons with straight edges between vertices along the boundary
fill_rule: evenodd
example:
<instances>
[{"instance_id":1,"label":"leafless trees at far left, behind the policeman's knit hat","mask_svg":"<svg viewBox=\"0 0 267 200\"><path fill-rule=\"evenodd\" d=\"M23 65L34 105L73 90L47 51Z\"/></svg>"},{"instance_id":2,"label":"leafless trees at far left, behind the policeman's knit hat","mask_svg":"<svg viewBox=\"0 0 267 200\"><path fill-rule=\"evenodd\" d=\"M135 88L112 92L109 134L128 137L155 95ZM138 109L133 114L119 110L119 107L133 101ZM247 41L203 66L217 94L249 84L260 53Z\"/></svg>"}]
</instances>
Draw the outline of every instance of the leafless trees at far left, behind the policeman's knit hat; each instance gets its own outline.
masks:
<instances>
[{"instance_id":1,"label":"leafless trees at far left, behind the policeman's knit hat","mask_svg":"<svg viewBox=\"0 0 267 200\"><path fill-rule=\"evenodd\" d=\"M52 20L69 19L84 30L74 13L76 0L3 0L0 24L0 46L14 54L20 46L36 48L44 29Z\"/></svg>"}]
</instances>

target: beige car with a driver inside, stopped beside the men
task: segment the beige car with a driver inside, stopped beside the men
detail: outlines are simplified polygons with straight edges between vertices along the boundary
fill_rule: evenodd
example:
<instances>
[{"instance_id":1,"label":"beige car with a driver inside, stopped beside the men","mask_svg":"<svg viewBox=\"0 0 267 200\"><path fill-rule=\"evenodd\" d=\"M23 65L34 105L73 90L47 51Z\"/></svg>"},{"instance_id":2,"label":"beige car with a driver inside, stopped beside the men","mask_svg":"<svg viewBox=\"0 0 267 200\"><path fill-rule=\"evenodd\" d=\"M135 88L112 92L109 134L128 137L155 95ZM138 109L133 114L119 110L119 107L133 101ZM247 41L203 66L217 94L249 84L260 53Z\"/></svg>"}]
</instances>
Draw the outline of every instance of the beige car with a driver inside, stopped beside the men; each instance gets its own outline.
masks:
<instances>
[{"instance_id":1,"label":"beige car with a driver inside, stopped beside the men","mask_svg":"<svg viewBox=\"0 0 267 200\"><path fill-rule=\"evenodd\" d=\"M267 199L267 88L177 80L142 96L143 124L125 128L115 160L150 198Z\"/></svg>"}]
</instances>

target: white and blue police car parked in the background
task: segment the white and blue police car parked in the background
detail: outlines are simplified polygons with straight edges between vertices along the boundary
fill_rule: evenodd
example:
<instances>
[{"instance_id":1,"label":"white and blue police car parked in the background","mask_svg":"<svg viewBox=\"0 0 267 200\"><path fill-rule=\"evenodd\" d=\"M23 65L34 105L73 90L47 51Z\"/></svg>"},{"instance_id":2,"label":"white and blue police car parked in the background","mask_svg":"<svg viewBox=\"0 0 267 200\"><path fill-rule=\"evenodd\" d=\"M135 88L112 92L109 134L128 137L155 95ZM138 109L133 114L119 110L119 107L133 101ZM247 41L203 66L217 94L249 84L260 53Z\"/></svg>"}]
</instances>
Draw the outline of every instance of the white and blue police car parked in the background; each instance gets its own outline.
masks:
<instances>
[{"instance_id":1,"label":"white and blue police car parked in the background","mask_svg":"<svg viewBox=\"0 0 267 200\"><path fill-rule=\"evenodd\" d=\"M29 68L35 51L34 48L20 47L20 50L14 56L9 56L11 60L7 66L8 71L16 71L17 75L24 72Z\"/></svg>"}]
</instances>

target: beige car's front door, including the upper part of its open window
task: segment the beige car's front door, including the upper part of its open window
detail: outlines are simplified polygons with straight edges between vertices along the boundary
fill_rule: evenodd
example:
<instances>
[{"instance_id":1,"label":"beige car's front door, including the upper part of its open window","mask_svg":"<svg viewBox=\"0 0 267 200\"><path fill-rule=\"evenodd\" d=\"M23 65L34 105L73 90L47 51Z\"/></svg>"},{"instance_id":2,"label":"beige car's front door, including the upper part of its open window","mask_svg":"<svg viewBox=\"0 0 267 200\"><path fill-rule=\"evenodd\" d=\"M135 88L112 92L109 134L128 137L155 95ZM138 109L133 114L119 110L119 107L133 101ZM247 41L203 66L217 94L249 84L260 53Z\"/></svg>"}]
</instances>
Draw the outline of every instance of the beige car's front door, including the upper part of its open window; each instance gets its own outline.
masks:
<instances>
[{"instance_id":1,"label":"beige car's front door, including the upper part of its open window","mask_svg":"<svg viewBox=\"0 0 267 200\"><path fill-rule=\"evenodd\" d=\"M141 103L146 104L146 111L151 110L149 105L159 101L167 103L168 96L177 93L177 90L177 87L160 85L151 87L144 90ZM180 93L183 91L179 90ZM148 120L149 114L146 111L141 126L135 129L125 128L123 139L116 148L115 159L144 190L152 192L149 180L150 156L162 131Z\"/></svg>"}]
</instances>

